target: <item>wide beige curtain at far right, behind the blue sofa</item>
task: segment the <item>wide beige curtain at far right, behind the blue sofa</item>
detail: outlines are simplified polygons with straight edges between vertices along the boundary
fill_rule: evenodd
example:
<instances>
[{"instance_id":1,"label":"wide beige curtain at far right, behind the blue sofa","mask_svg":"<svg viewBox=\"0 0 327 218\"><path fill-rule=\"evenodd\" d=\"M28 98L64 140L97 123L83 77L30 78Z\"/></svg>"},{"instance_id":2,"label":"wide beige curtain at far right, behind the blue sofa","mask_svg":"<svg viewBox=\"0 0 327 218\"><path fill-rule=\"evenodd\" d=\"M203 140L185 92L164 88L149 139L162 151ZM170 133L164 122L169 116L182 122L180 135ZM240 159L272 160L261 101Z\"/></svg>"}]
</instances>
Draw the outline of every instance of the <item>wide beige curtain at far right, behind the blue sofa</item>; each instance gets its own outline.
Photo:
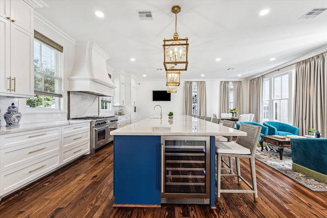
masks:
<instances>
[{"instance_id":1,"label":"wide beige curtain at far right, behind the blue sofa","mask_svg":"<svg viewBox=\"0 0 327 218\"><path fill-rule=\"evenodd\" d=\"M295 64L293 125L299 135L313 128L327 137L327 52Z\"/></svg>"}]
</instances>

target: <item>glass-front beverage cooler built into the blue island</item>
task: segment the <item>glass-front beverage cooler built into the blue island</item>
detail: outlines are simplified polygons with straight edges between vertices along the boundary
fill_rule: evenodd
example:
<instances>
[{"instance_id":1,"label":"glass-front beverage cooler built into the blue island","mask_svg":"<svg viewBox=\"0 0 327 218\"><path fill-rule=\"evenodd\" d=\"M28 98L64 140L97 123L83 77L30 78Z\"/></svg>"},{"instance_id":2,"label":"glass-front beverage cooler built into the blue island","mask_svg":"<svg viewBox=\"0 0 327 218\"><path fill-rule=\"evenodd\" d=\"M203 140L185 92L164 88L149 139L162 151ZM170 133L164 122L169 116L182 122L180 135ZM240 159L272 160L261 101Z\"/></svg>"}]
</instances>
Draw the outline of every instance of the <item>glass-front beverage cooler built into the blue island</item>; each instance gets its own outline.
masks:
<instances>
[{"instance_id":1,"label":"glass-front beverage cooler built into the blue island","mask_svg":"<svg viewBox=\"0 0 327 218\"><path fill-rule=\"evenodd\" d=\"M210 137L161 136L161 203L209 204Z\"/></svg>"}]
</instances>

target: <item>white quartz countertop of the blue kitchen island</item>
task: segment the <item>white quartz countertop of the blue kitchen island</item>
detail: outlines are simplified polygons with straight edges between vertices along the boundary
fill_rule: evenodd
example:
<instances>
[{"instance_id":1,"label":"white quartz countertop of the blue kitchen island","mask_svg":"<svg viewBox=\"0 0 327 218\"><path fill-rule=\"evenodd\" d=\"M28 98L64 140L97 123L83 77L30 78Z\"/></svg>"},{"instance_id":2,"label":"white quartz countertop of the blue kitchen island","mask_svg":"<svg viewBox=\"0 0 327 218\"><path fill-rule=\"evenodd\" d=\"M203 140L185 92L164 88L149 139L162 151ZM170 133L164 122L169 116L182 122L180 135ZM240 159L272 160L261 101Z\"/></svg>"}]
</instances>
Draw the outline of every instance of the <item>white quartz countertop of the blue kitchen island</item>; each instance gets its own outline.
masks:
<instances>
[{"instance_id":1,"label":"white quartz countertop of the blue kitchen island","mask_svg":"<svg viewBox=\"0 0 327 218\"><path fill-rule=\"evenodd\" d=\"M246 136L246 132L189 115L149 117L139 122L110 131L112 135L198 135L198 136Z\"/></svg>"}]
</instances>

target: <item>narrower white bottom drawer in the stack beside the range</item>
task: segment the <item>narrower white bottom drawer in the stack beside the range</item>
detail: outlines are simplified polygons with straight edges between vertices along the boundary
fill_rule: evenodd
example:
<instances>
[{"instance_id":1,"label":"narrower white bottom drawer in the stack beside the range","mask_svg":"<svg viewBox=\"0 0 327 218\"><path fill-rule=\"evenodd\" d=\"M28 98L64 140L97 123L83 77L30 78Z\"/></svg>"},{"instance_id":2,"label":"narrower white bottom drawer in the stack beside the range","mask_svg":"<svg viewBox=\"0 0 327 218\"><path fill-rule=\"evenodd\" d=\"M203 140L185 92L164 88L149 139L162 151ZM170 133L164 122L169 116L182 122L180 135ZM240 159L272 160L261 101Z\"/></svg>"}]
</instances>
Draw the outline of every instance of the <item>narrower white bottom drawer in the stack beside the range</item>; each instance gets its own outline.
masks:
<instances>
[{"instance_id":1,"label":"narrower white bottom drawer in the stack beside the range","mask_svg":"<svg viewBox=\"0 0 327 218\"><path fill-rule=\"evenodd\" d=\"M79 143L61 151L61 164L65 164L90 151L90 141Z\"/></svg>"}]
</instances>

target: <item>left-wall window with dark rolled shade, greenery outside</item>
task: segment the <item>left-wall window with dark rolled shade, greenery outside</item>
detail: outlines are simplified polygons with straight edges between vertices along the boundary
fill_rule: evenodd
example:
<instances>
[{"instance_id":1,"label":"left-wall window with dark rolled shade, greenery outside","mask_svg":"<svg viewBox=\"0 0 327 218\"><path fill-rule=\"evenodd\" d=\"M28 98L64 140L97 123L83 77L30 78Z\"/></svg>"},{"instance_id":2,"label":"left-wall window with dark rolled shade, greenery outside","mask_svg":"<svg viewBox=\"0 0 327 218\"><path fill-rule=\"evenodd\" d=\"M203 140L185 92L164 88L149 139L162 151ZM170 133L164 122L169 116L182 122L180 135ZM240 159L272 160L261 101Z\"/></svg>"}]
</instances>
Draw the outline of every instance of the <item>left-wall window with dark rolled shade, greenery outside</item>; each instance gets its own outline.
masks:
<instances>
[{"instance_id":1,"label":"left-wall window with dark rolled shade, greenery outside","mask_svg":"<svg viewBox=\"0 0 327 218\"><path fill-rule=\"evenodd\" d=\"M35 32L34 98L26 100L27 108L59 110L62 75L62 46Z\"/></svg>"}]
</instances>

